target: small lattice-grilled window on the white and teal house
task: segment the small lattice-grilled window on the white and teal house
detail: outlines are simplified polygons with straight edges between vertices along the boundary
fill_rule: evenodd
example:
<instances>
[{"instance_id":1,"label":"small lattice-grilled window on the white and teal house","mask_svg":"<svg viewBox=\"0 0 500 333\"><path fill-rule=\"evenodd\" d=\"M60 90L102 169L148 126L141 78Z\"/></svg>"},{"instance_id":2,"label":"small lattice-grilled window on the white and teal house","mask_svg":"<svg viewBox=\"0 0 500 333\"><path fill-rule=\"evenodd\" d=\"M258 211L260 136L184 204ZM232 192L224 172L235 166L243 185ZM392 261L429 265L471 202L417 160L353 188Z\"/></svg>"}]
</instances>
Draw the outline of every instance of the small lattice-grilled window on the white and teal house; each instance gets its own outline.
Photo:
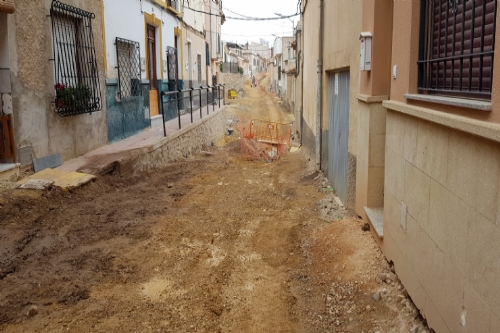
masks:
<instances>
[{"instance_id":1,"label":"small lattice-grilled window on the white and teal house","mask_svg":"<svg viewBox=\"0 0 500 333\"><path fill-rule=\"evenodd\" d=\"M120 98L141 95L141 51L138 42L116 38Z\"/></svg>"}]
</instances>

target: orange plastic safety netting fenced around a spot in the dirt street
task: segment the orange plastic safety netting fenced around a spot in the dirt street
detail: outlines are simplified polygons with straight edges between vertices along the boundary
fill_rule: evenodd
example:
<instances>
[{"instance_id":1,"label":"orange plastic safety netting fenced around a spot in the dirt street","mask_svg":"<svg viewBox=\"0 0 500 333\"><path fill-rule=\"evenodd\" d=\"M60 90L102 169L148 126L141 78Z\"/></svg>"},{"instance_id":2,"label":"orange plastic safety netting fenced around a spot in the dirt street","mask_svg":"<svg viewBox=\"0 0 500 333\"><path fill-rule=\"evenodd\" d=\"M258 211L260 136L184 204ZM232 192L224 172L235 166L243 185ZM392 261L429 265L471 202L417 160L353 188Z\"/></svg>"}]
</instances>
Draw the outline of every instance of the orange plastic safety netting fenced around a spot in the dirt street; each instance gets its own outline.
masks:
<instances>
[{"instance_id":1,"label":"orange plastic safety netting fenced around a spot in the dirt street","mask_svg":"<svg viewBox=\"0 0 500 333\"><path fill-rule=\"evenodd\" d=\"M254 119L240 125L241 154L259 160L275 160L290 150L292 125Z\"/></svg>"}]
</instances>

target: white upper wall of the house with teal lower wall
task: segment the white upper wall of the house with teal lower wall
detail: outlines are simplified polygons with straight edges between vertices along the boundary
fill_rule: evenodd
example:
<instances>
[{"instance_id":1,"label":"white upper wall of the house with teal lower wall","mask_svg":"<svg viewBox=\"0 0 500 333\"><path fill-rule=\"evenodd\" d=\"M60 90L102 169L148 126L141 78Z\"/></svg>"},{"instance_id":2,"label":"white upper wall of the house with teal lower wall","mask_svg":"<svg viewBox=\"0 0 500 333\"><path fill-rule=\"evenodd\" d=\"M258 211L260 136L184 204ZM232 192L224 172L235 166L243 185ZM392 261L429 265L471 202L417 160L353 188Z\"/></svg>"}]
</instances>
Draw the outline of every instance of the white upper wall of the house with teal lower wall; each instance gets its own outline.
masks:
<instances>
[{"instance_id":1,"label":"white upper wall of the house with teal lower wall","mask_svg":"<svg viewBox=\"0 0 500 333\"><path fill-rule=\"evenodd\" d=\"M161 72L161 62L166 60L167 46L174 47L174 27L180 26L180 21L170 12L158 5L142 1L142 11L148 14L155 14L157 19L162 20L161 27L156 29L157 40L157 73L158 79L167 79L166 68ZM106 30L106 78L118 78L117 58L116 58L116 37L139 42L141 58L146 57L146 32L144 15L141 13L141 2L139 0L104 0L104 24ZM162 49L160 50L160 28L162 30ZM178 61L180 52L178 50ZM180 68L180 63L179 63ZM147 78L145 68L141 68L141 78Z\"/></svg>"}]
</instances>

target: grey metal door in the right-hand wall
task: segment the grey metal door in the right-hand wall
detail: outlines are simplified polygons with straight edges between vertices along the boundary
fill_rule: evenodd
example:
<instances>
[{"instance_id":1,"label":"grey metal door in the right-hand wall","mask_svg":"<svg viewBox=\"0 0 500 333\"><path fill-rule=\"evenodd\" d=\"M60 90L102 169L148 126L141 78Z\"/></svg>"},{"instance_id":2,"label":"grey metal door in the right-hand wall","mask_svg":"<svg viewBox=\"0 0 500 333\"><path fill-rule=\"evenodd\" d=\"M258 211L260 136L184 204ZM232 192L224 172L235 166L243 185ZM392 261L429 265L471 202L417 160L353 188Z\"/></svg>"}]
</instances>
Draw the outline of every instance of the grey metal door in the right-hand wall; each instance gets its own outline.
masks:
<instances>
[{"instance_id":1,"label":"grey metal door in the right-hand wall","mask_svg":"<svg viewBox=\"0 0 500 333\"><path fill-rule=\"evenodd\" d=\"M328 180L347 205L349 71L330 75L328 128Z\"/></svg>"}]
</instances>

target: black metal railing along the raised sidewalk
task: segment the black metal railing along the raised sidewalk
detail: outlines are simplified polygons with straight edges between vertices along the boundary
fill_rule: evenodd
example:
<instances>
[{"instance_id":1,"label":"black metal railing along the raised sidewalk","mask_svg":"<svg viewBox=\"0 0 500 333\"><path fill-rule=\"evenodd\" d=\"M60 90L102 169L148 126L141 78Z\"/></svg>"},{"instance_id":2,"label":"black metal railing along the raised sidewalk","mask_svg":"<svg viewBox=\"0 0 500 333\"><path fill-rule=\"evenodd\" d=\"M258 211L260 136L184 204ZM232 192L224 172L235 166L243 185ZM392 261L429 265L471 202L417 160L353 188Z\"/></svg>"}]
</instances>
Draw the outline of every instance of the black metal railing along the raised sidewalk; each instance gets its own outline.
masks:
<instances>
[{"instance_id":1,"label":"black metal railing along the raised sidewalk","mask_svg":"<svg viewBox=\"0 0 500 333\"><path fill-rule=\"evenodd\" d=\"M221 100L223 105L225 94L225 85L217 84L213 86L200 86L199 88L191 88L185 90L162 91L160 93L160 111L163 118L163 135L167 136L165 127L165 114L176 113L179 120L179 129L182 128L181 116L190 113L191 123L194 122L193 112L200 110L200 118L203 118L203 111L210 114L210 105L212 105L212 112L215 111L215 105L218 103L219 108ZM206 107L206 109L205 109Z\"/></svg>"}]
</instances>

